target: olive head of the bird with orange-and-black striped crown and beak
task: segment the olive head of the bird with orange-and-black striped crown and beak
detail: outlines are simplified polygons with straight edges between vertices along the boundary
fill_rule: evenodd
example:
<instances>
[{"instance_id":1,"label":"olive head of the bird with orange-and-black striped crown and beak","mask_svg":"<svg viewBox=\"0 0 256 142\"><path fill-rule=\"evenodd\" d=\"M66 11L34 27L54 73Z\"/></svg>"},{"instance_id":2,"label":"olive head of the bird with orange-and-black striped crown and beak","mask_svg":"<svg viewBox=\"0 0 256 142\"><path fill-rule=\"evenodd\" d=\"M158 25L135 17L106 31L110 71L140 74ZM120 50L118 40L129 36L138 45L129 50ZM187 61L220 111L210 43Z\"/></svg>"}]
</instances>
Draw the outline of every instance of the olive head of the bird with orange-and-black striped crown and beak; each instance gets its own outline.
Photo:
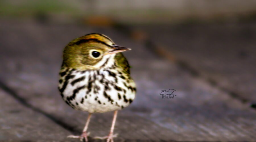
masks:
<instances>
[{"instance_id":1,"label":"olive head of the bird with orange-and-black striped crown and beak","mask_svg":"<svg viewBox=\"0 0 256 142\"><path fill-rule=\"evenodd\" d=\"M65 47L62 65L78 70L98 69L107 62L114 62L116 53L127 50L131 49L115 45L105 35L87 34L72 40Z\"/></svg>"}]
</instances>

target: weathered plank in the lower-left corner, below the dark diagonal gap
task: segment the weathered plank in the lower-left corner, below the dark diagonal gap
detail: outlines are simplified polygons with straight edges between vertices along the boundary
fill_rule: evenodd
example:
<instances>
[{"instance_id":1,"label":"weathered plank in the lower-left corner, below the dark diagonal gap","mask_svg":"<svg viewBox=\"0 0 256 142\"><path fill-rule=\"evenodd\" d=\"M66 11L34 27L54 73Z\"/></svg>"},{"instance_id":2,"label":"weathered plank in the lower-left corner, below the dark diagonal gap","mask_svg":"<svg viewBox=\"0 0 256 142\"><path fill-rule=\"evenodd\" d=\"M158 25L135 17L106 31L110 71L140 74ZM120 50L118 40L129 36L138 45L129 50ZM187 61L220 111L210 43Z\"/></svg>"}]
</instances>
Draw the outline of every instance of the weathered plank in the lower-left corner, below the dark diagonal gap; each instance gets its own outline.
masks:
<instances>
[{"instance_id":1,"label":"weathered plank in the lower-left corner, below the dark diagonal gap","mask_svg":"<svg viewBox=\"0 0 256 142\"><path fill-rule=\"evenodd\" d=\"M70 131L0 89L0 141L66 141ZM58 133L53 133L58 131Z\"/></svg>"}]
</instances>

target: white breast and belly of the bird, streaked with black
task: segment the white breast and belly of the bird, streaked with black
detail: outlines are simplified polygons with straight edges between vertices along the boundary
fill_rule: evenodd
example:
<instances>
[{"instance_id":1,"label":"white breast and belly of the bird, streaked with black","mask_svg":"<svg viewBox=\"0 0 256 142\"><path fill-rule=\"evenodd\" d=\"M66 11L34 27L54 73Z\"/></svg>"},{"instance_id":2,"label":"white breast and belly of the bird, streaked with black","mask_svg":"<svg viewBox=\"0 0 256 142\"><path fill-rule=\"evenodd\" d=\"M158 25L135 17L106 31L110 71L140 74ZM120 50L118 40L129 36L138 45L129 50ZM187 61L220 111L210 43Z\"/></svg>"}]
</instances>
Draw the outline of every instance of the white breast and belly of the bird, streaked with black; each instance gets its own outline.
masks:
<instances>
[{"instance_id":1,"label":"white breast and belly of the bird, streaked with black","mask_svg":"<svg viewBox=\"0 0 256 142\"><path fill-rule=\"evenodd\" d=\"M64 101L77 110L91 113L113 111L128 106L135 98L135 90L128 89L126 86L135 88L134 82L127 83L126 79L120 77L121 74L118 74L117 70L110 70L110 72L116 74L116 78L105 69L72 71L70 75L75 77L68 81L63 91ZM84 79L74 83L79 78ZM59 87L63 87L63 83Z\"/></svg>"}]
</instances>

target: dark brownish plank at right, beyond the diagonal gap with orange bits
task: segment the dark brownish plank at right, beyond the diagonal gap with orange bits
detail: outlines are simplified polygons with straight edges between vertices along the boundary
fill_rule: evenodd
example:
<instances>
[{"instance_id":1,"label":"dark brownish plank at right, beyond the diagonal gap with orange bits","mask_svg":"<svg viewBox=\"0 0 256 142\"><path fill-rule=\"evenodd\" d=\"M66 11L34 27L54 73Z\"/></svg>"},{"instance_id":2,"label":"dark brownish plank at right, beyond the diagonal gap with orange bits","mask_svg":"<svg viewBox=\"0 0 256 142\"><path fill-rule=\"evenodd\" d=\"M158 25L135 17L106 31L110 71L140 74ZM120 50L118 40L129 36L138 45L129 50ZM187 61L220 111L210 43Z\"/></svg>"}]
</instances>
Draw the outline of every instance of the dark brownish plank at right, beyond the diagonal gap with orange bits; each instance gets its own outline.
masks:
<instances>
[{"instance_id":1,"label":"dark brownish plank at right, beyond the diagonal gap with orange bits","mask_svg":"<svg viewBox=\"0 0 256 142\"><path fill-rule=\"evenodd\" d=\"M213 86L243 102L256 103L255 23L142 29L169 53L162 57L172 56Z\"/></svg>"}]
</instances>

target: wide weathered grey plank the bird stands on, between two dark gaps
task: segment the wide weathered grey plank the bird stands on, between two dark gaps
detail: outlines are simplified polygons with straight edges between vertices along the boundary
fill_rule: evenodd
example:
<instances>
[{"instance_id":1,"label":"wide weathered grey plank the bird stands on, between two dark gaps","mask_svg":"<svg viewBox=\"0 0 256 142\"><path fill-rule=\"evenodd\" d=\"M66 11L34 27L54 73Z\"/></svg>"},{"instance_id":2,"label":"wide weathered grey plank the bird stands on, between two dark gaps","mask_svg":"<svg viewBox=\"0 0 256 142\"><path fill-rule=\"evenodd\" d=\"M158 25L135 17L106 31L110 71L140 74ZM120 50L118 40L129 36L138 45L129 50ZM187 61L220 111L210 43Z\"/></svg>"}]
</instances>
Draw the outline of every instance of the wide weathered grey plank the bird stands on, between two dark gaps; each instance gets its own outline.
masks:
<instances>
[{"instance_id":1,"label":"wide weathered grey plank the bird stands on, between two dark gaps","mask_svg":"<svg viewBox=\"0 0 256 142\"><path fill-rule=\"evenodd\" d=\"M100 32L111 37L116 44L133 49L125 55L137 83L137 98L118 114L115 127L115 133L119 133L117 141L256 140L255 110L230 97L227 92L194 78L177 64L160 59L122 32L111 28L33 22L1 21L0 24L1 82L32 108L37 108L34 111L39 110L35 115L45 118L40 125L52 121L55 123L52 126L66 129L39 129L40 135L49 135L49 139L59 135L66 140L63 133L79 134L82 131L87 113L66 105L57 90L61 54L71 39ZM177 90L174 99L162 99L159 95L161 90L168 89ZM5 91L4 96L11 95L8 89ZM17 103L24 105L24 101ZM20 115L15 114L16 117ZM94 114L89 125L91 136L107 135L111 120L112 112ZM10 139L5 137L3 140ZM42 141L49 139L40 138ZM31 140L34 141L33 138Z\"/></svg>"}]
</instances>

